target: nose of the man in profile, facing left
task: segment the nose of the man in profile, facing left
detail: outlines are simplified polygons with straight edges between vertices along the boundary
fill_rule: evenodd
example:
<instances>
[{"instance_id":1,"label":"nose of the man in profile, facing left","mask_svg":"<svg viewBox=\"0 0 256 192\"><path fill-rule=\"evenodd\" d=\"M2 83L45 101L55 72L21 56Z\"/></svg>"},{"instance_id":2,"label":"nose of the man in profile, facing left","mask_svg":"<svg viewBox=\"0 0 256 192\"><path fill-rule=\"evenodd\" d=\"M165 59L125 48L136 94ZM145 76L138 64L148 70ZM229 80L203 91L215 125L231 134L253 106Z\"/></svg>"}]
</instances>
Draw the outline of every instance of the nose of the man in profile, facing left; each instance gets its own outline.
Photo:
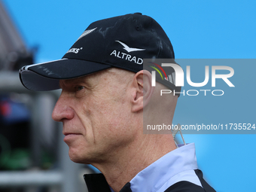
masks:
<instances>
[{"instance_id":1,"label":"nose of the man in profile, facing left","mask_svg":"<svg viewBox=\"0 0 256 192\"><path fill-rule=\"evenodd\" d=\"M55 121L71 120L74 117L75 111L70 107L71 100L69 96L61 94L55 107L53 108L52 118Z\"/></svg>"}]
</instances>

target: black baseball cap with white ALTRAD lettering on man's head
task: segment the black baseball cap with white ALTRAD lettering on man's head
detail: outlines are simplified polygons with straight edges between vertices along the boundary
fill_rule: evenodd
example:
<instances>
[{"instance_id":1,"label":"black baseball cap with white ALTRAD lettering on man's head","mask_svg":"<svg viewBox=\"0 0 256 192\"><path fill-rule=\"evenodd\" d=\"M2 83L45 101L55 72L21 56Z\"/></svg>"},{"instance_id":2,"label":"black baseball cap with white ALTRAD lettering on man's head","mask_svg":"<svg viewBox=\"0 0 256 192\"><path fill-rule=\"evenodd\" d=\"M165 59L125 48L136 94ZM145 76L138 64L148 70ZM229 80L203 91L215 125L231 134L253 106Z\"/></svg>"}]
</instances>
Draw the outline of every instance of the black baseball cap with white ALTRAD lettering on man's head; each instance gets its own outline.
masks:
<instances>
[{"instance_id":1,"label":"black baseball cap with white ALTRAD lettering on man's head","mask_svg":"<svg viewBox=\"0 0 256 192\"><path fill-rule=\"evenodd\" d=\"M175 56L162 27L151 17L126 14L91 23L62 59L23 66L20 81L29 90L56 90L60 79L78 78L111 67L139 72L143 59L163 58ZM173 87L174 84L170 86Z\"/></svg>"}]
</instances>

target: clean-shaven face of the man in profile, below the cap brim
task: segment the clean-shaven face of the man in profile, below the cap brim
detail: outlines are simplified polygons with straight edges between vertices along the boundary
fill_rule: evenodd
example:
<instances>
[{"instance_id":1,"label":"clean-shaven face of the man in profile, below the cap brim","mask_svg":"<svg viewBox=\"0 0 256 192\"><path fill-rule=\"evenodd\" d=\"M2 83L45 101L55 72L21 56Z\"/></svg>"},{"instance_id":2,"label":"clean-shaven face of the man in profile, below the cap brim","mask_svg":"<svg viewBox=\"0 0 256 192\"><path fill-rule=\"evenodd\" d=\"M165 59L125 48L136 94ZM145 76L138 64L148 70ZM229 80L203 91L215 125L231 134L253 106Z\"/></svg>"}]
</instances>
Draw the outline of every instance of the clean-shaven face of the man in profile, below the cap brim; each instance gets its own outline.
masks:
<instances>
[{"instance_id":1,"label":"clean-shaven face of the man in profile, below the cap brim","mask_svg":"<svg viewBox=\"0 0 256 192\"><path fill-rule=\"evenodd\" d=\"M71 160L99 163L132 142L136 130L130 126L133 113L129 82L133 75L109 69L60 81L62 93L52 117L63 123Z\"/></svg>"}]
</instances>

